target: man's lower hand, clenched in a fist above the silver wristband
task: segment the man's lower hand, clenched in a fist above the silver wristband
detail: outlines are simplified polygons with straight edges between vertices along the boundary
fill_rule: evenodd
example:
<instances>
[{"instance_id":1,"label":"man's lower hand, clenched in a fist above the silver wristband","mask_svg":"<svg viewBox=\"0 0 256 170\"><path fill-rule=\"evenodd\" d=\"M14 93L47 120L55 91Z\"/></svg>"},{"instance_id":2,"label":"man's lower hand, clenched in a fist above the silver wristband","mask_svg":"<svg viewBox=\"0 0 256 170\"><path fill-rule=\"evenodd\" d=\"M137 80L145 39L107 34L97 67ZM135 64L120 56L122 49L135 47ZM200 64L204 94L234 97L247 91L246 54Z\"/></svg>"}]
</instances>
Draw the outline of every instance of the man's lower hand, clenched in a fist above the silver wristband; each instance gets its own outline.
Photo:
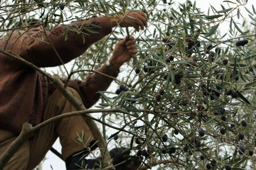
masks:
<instances>
[{"instance_id":1,"label":"man's lower hand, clenched in a fist above the silver wristband","mask_svg":"<svg viewBox=\"0 0 256 170\"><path fill-rule=\"evenodd\" d=\"M135 39L133 36L130 36L129 39L126 36L125 39L116 43L112 57L109 59L110 64L115 69L119 69L123 63L131 59L131 52L133 51L137 51Z\"/></svg>"}]
</instances>

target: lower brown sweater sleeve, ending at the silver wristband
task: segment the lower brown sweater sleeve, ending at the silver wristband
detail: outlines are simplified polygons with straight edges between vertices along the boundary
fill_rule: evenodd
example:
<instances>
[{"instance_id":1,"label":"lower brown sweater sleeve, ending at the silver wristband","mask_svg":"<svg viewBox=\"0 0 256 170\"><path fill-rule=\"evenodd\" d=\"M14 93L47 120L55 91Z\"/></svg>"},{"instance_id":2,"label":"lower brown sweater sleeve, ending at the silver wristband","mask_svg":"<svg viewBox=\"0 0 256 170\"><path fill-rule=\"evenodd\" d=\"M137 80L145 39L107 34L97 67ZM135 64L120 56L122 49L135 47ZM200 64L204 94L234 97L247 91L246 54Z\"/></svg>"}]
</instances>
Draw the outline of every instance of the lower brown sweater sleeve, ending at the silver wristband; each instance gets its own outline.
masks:
<instances>
[{"instance_id":1,"label":"lower brown sweater sleeve, ending at the silver wristband","mask_svg":"<svg viewBox=\"0 0 256 170\"><path fill-rule=\"evenodd\" d=\"M106 66L106 63L95 71L117 77L117 75ZM112 81L112 78L98 73L87 75L86 79L79 84L79 90L84 99L84 106L87 109L92 107L100 99L100 94L96 92L106 91Z\"/></svg>"}]
</instances>

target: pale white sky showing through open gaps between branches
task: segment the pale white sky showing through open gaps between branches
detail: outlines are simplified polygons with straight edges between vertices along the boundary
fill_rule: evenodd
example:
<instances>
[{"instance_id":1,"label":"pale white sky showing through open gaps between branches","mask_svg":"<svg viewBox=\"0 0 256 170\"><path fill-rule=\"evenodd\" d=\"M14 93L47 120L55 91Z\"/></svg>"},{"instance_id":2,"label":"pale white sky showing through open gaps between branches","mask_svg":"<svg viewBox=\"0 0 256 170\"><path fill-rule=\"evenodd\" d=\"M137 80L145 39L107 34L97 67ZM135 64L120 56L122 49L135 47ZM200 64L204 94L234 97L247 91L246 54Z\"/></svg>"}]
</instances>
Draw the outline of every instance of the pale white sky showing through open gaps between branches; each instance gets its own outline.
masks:
<instances>
[{"instance_id":1,"label":"pale white sky showing through open gaps between branches","mask_svg":"<svg viewBox=\"0 0 256 170\"><path fill-rule=\"evenodd\" d=\"M97 0L96 0L97 1ZM175 1L175 0L174 0ZM192 1L192 4L194 3L195 0L191 0ZM230 0L232 2L235 2L235 0ZM240 0L242 1L242 0ZM169 0L167 0L167 2L169 2ZM176 0L175 1L176 3L184 3L185 0ZM208 7L210 5L212 5L216 10L222 10L220 4L224 5L224 7L226 8L229 8L226 3L222 3L222 0L214 0L214 1L209 1L209 0L196 0L196 4L197 4L197 8L201 8L201 11L205 12L205 14L207 14L207 11L208 11ZM249 0L246 7L252 11L251 7L252 7L252 4L256 7L256 1L255 0ZM232 6L233 7L233 6ZM243 8L243 7L240 7L240 10L241 10L241 14L243 14L243 17L247 18L248 20L251 20L248 15L247 15L247 11ZM237 10L234 10L233 12L233 15L236 14ZM210 13L210 15L212 15L212 13ZM255 16L254 16L255 17ZM241 18L240 16L240 20L238 21L237 17L233 17L233 19L237 22L243 22L243 18ZM234 26L233 26L234 28ZM227 31L229 30L229 23L227 22L224 22L222 24L220 24L219 26L219 32L221 35L223 35L224 33L226 33ZM136 36L135 36L136 37ZM228 38L228 37L227 37ZM66 67L68 70L70 70L70 63L67 63L66 64ZM46 68L46 71L51 73L51 71L56 71L57 68ZM121 79L122 76L126 76L126 73L121 73L119 74L118 78ZM117 88L117 85L112 83L111 86L108 88L107 91L112 91L114 92ZM95 107L92 107L92 109L96 109ZM100 115L100 114L97 114L97 115ZM100 126L101 127L101 126ZM107 131L107 135L110 136L112 133L116 132L116 130L112 130L112 129L109 129ZM59 143L59 139L57 139L57 141L54 143L53 145L53 148L55 148L56 150L58 150L59 152L61 152L61 145ZM113 148L113 147L111 147ZM110 149L110 148L109 148ZM63 169L66 169L65 167L65 162L63 162L61 159L59 159L57 156L55 156L55 154L53 154L51 151L49 151L47 154L46 154L46 160L44 161L43 165L42 165L42 169L43 170L50 170L51 167L50 165L53 167L54 170L63 170Z\"/></svg>"}]
</instances>

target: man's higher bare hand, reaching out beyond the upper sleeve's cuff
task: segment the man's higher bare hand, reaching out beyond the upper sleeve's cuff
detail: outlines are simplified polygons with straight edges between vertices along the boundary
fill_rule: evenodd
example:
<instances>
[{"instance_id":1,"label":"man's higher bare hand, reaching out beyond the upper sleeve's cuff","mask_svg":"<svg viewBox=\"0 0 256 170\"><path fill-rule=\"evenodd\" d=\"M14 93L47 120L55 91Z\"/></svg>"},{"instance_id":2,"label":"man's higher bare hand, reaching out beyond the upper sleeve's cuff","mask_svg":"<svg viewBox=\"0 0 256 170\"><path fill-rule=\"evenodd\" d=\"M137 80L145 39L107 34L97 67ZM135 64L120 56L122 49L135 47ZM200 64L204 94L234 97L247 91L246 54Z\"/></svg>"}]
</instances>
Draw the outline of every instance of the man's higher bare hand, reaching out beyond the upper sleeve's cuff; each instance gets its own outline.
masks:
<instances>
[{"instance_id":1,"label":"man's higher bare hand, reaching out beyond the upper sleeve's cuff","mask_svg":"<svg viewBox=\"0 0 256 170\"><path fill-rule=\"evenodd\" d=\"M130 18L129 16L132 18ZM139 27L144 30L144 27L148 26L148 18L146 17L146 14L142 11L132 12L130 10L127 10L125 11L125 14L123 16L115 14L114 17L115 20L112 20L112 25L114 26L117 25L116 22L119 23L120 19L122 20L123 18L123 21L119 24L121 27L134 27L136 31L139 31Z\"/></svg>"}]
</instances>

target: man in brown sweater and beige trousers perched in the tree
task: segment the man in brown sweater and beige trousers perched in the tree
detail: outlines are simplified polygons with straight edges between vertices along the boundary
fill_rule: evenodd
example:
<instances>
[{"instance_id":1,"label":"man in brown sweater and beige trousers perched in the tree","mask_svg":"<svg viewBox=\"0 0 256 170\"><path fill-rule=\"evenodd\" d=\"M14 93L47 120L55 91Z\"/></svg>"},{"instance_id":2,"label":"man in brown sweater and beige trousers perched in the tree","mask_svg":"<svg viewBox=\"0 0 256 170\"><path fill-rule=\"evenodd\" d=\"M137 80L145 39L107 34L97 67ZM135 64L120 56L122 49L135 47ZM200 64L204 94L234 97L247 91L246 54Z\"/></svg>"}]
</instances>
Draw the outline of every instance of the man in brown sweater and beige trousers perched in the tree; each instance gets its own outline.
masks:
<instances>
[{"instance_id":1,"label":"man in brown sweater and beige trousers perched in the tree","mask_svg":"<svg viewBox=\"0 0 256 170\"><path fill-rule=\"evenodd\" d=\"M23 30L14 32L11 37L0 40L0 48L20 56L37 67L58 66L62 62L67 63L80 56L94 42L111 33L112 27L116 26L120 19L124 18L119 24L121 27L133 26L137 31L139 31L139 27L141 29L147 27L147 18L144 12L125 11L125 13L132 18L137 18L134 19L136 22L125 15L115 15L113 19L104 16L93 17L83 21L82 25L77 22L78 26L82 26L82 31L89 34L85 37L85 43L83 43L81 34L68 29L65 41L63 36L65 26L58 25L51 31L36 27L30 28L27 32ZM83 29L92 27L92 24L100 26L93 28L98 33L91 33ZM69 26L75 28L75 22ZM42 40L42 36L45 36L44 40ZM55 49L52 48L52 45ZM117 42L111 58L96 69L96 72L116 77L119 67L129 61L131 52L136 50L135 39L132 36L125 37L122 41ZM105 91L113 80L96 72L88 75L83 81L70 80L67 83L68 89L82 101L87 109L98 101L99 95L96 92ZM65 82L65 79L62 80ZM21 61L0 53L0 154L3 154L16 139L24 122L36 126L51 117L72 111L76 111L76 109L54 88L46 76ZM84 146L75 142L76 132L81 134L82 129L86 135L84 141L88 141L88 146L92 147L95 141L82 117L63 118L36 132L9 160L5 169L33 169L41 162L57 137L60 138L62 156L67 169L77 168L74 163L81 164L79 158L88 153ZM84 152L76 155L81 151ZM114 153L111 154L113 157ZM88 160L88 168L95 166L95 162L97 163L96 160ZM127 168L129 169L129 167Z\"/></svg>"}]
</instances>

